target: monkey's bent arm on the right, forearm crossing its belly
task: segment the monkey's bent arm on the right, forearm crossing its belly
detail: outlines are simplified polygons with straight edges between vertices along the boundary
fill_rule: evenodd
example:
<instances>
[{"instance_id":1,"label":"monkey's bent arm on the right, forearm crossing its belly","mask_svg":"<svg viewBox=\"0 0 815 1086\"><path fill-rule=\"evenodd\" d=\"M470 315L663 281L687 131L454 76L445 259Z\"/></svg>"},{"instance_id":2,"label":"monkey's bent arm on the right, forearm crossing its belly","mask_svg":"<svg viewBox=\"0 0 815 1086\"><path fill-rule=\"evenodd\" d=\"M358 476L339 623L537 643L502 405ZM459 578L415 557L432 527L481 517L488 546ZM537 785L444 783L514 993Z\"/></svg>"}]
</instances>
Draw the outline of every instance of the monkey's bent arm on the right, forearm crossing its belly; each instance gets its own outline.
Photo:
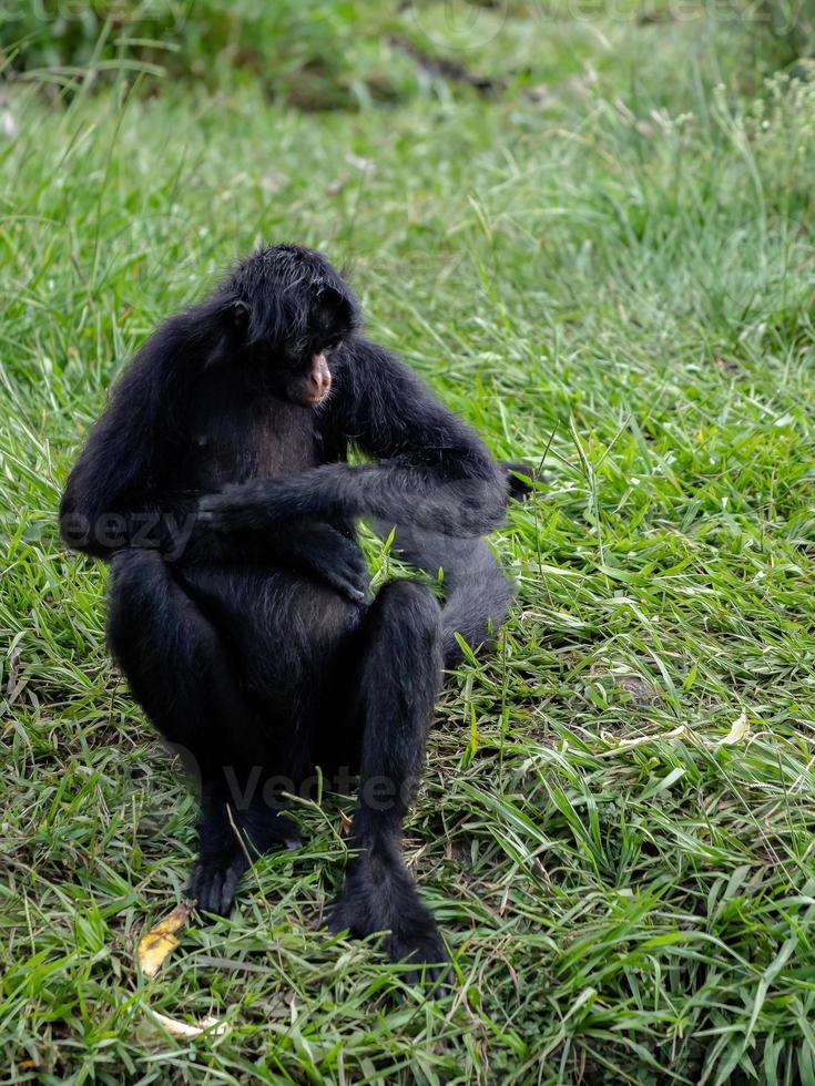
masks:
<instances>
[{"instance_id":1,"label":"monkey's bent arm on the right, forearm crossing its belly","mask_svg":"<svg viewBox=\"0 0 815 1086\"><path fill-rule=\"evenodd\" d=\"M383 347L355 337L342 351L332 410L344 434L379 462L231 486L202 500L202 519L224 531L298 515L370 515L465 537L497 527L509 482L480 439Z\"/></svg>"}]
</instances>

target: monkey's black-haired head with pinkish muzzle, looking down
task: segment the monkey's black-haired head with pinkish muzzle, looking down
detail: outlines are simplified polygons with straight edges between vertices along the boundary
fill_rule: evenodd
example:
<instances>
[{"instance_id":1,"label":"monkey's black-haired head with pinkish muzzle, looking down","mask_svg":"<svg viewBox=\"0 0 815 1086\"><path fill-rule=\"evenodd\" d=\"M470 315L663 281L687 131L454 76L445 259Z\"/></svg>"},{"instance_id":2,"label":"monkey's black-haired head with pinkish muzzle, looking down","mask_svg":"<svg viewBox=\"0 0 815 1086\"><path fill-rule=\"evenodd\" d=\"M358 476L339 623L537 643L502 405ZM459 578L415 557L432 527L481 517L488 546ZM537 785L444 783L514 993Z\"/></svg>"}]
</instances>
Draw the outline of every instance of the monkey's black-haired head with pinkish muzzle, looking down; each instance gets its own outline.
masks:
<instances>
[{"instance_id":1,"label":"monkey's black-haired head with pinkish muzzle, looking down","mask_svg":"<svg viewBox=\"0 0 815 1086\"><path fill-rule=\"evenodd\" d=\"M218 291L240 354L284 399L318 407L332 388L332 351L359 325L359 304L313 249L272 245L242 260Z\"/></svg>"}]
</instances>

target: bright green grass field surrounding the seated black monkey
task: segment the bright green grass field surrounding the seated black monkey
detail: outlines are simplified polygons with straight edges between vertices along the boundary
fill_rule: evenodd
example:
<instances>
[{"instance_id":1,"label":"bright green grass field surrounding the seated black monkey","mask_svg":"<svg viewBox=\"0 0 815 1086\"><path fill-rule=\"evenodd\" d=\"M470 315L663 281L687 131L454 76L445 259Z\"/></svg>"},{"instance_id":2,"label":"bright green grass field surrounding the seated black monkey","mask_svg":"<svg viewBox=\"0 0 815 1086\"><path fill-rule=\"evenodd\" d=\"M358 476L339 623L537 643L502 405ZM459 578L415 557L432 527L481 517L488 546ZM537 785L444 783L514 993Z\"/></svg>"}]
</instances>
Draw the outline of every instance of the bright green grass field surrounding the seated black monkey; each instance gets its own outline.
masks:
<instances>
[{"instance_id":1,"label":"bright green grass field surrounding the seated black monkey","mask_svg":"<svg viewBox=\"0 0 815 1086\"><path fill-rule=\"evenodd\" d=\"M533 68L492 95L6 95L0 1083L815 1083L815 82L722 11L624 7L482 12L468 63ZM335 802L135 964L195 808L58 496L155 321L281 239L350 260L371 332L549 483L408 826L438 1001L318 933Z\"/></svg>"}]
</instances>

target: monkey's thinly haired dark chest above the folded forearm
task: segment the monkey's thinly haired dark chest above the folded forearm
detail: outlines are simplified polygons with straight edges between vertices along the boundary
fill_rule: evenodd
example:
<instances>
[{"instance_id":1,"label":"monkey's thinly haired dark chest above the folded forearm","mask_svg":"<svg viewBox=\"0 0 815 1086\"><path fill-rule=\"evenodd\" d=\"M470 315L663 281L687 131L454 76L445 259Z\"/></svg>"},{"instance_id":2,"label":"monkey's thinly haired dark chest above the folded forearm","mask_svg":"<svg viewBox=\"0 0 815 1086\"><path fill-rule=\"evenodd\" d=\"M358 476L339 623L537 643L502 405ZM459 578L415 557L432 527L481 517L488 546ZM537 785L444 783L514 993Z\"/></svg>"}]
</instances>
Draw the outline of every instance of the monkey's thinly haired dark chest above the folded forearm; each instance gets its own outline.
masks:
<instances>
[{"instance_id":1,"label":"monkey's thinly haired dark chest above the folded forearm","mask_svg":"<svg viewBox=\"0 0 815 1086\"><path fill-rule=\"evenodd\" d=\"M313 411L296 404L222 402L221 411L195 412L187 441L187 471L195 490L271 479L324 461Z\"/></svg>"}]
</instances>

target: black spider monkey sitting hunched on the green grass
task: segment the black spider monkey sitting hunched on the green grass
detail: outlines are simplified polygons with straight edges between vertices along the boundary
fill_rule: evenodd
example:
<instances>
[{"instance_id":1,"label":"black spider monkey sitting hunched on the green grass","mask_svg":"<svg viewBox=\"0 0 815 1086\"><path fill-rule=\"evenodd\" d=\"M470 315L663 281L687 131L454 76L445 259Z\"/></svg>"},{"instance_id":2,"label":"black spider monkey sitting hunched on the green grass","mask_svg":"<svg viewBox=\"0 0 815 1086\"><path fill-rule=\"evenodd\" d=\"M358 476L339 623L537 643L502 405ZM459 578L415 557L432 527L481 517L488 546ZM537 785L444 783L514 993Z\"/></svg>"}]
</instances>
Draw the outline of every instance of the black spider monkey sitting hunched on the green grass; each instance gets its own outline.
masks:
<instances>
[{"instance_id":1,"label":"black spider monkey sitting hunched on the green grass","mask_svg":"<svg viewBox=\"0 0 815 1086\"><path fill-rule=\"evenodd\" d=\"M133 695L200 776L191 894L226 914L259 852L296 839L284 791L358 775L334 931L447 954L400 854L441 669L483 642L509 582L481 535L523 491L394 355L318 253L243 260L119 381L65 486L63 539L110 560L108 637ZM353 443L375 463L346 463ZM529 473L522 467L519 469ZM354 520L431 573L370 602ZM434 975L432 971L431 974Z\"/></svg>"}]
</instances>

